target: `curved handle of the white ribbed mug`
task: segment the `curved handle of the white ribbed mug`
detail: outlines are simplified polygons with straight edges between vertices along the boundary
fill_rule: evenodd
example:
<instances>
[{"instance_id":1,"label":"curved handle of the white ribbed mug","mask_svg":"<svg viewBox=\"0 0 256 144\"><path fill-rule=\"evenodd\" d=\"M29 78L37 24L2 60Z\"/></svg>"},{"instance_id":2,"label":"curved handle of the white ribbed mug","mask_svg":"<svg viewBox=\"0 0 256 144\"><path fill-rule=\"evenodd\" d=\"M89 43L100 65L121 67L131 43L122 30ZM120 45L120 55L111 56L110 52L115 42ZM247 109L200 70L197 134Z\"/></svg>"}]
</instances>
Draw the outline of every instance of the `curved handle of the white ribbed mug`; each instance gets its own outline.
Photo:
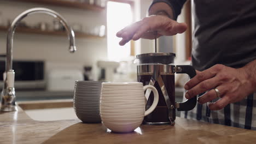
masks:
<instances>
[{"instance_id":1,"label":"curved handle of the white ribbed mug","mask_svg":"<svg viewBox=\"0 0 256 144\"><path fill-rule=\"evenodd\" d=\"M148 88L151 89L154 93L154 101L153 101L153 104L149 107L149 109L145 111L144 116L149 115L149 113L155 110L155 107L158 105L158 100L159 100L158 90L154 86L150 86L150 85L144 86L143 90L146 91Z\"/></svg>"}]
</instances>

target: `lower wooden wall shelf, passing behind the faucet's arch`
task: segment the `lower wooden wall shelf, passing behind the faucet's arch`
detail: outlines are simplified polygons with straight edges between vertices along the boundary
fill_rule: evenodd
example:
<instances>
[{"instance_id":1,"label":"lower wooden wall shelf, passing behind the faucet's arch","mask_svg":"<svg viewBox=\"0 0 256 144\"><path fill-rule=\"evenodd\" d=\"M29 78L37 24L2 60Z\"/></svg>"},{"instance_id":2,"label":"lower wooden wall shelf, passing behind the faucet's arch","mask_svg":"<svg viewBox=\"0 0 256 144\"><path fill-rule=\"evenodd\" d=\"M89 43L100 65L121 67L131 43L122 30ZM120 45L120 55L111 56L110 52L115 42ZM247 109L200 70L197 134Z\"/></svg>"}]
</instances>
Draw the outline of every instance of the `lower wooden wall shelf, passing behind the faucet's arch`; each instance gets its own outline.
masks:
<instances>
[{"instance_id":1,"label":"lower wooden wall shelf, passing behind the faucet's arch","mask_svg":"<svg viewBox=\"0 0 256 144\"><path fill-rule=\"evenodd\" d=\"M7 32L8 27L0 26L0 31L2 32ZM27 33L27 34L40 34L40 35L56 35L56 36L65 36L67 37L66 31L42 31L37 28L19 28L17 27L16 31L18 33ZM99 37L96 35L90 35L90 34L85 34L81 32L74 32L75 33L75 38L104 38L104 37Z\"/></svg>"}]
</instances>

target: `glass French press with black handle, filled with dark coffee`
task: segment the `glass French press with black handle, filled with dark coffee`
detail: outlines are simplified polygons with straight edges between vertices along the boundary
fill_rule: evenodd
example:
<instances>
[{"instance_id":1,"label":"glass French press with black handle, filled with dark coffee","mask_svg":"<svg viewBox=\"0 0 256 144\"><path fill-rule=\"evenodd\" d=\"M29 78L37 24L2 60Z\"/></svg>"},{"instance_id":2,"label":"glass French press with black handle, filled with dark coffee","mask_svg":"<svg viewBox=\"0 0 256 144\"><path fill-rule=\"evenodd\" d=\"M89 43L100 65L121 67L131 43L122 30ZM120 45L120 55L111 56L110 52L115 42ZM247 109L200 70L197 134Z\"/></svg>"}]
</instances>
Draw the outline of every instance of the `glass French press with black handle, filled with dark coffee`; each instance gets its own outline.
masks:
<instances>
[{"instance_id":1,"label":"glass French press with black handle, filled with dark coffee","mask_svg":"<svg viewBox=\"0 0 256 144\"><path fill-rule=\"evenodd\" d=\"M144 117L146 124L172 124L178 111L189 111L196 105L196 97L182 103L175 102L174 73L188 74L190 78L196 75L191 65L173 65L174 53L144 53L136 56L137 79L143 85L152 85L158 89L159 102L155 110ZM146 91L146 109L152 105L154 100L153 92Z\"/></svg>"}]
</instances>

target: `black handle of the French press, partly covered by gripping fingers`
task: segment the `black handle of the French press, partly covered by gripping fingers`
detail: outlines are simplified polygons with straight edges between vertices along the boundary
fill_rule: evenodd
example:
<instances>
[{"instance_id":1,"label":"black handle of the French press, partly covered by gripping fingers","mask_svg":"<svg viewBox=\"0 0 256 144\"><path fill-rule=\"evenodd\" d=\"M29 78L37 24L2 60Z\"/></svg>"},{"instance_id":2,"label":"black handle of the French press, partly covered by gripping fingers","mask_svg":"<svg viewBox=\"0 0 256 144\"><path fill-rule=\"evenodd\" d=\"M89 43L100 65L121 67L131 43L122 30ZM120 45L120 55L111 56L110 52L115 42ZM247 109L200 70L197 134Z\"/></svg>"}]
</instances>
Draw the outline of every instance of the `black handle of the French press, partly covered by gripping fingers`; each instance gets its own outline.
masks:
<instances>
[{"instance_id":1,"label":"black handle of the French press, partly covered by gripping fingers","mask_svg":"<svg viewBox=\"0 0 256 144\"><path fill-rule=\"evenodd\" d=\"M188 74L190 76L190 79L192 79L196 75L196 71L191 65L176 65L175 69L177 74ZM193 97L182 103L176 103L177 110L190 111L196 106L196 101L197 98Z\"/></svg>"}]
</instances>

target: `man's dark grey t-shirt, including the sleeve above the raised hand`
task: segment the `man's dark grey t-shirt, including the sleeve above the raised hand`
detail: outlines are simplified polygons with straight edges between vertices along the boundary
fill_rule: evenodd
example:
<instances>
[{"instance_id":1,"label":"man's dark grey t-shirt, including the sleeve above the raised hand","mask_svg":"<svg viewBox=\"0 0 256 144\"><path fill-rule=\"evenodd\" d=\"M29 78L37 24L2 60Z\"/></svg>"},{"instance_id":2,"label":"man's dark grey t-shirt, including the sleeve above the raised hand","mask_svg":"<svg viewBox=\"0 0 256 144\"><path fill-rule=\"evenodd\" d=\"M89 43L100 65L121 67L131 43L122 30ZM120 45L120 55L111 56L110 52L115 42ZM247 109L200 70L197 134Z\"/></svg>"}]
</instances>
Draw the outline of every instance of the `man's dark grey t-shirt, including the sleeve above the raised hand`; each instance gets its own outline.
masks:
<instances>
[{"instance_id":1,"label":"man's dark grey t-shirt, including the sleeve above the raised hand","mask_svg":"<svg viewBox=\"0 0 256 144\"><path fill-rule=\"evenodd\" d=\"M181 13L185 0L165 2L174 19ZM194 0L192 64L205 70L215 64L240 68L256 59L255 0Z\"/></svg>"}]
</instances>

